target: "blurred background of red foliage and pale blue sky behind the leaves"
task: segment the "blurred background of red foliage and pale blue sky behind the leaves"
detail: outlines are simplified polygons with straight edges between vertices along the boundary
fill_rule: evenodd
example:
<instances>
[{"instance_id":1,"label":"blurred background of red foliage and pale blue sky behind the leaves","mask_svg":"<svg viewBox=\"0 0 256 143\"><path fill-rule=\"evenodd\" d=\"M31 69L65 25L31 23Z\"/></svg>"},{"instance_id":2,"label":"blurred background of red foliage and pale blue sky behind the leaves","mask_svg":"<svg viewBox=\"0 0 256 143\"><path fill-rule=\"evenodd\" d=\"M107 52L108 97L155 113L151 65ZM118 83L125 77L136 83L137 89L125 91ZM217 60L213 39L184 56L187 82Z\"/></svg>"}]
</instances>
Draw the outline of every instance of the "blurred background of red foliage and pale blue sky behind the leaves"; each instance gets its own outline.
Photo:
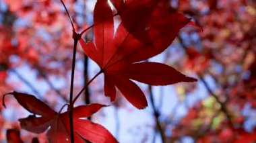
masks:
<instances>
[{"instance_id":1,"label":"blurred background of red foliage and pale blue sky behind the leaves","mask_svg":"<svg viewBox=\"0 0 256 143\"><path fill-rule=\"evenodd\" d=\"M78 31L93 24L96 1L64 2ZM110 105L92 121L119 142L256 141L256 1L170 0L165 6L191 17L201 29L186 26L150 61L164 62L199 81L164 87L138 83L150 103L138 110L121 93L110 103L104 97L103 78L98 77L76 105ZM30 93L59 111L69 97L71 34L60 1L0 0L0 95ZM93 37L90 31L83 38ZM74 94L98 70L79 47ZM1 142L7 142L7 130L20 132L24 142L46 142L45 133L20 129L18 119L30 113L11 96L5 103L7 109L0 105Z\"/></svg>"}]
</instances>

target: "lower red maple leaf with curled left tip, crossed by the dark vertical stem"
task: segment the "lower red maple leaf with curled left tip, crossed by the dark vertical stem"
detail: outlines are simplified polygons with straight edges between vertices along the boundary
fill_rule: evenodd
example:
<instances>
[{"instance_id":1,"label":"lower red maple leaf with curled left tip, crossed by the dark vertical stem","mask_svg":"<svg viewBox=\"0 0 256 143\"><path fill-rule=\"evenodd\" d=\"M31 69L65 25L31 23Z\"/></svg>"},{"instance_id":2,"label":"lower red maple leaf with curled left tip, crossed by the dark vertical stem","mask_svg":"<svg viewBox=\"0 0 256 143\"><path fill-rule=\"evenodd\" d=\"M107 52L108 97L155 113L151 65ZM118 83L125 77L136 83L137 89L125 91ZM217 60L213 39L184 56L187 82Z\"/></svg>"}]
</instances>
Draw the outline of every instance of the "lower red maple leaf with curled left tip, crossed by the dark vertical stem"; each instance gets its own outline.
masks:
<instances>
[{"instance_id":1,"label":"lower red maple leaf with curled left tip, crossed by the dark vertical stem","mask_svg":"<svg viewBox=\"0 0 256 143\"><path fill-rule=\"evenodd\" d=\"M8 94L13 95L22 107L34 114L19 120L21 128L39 134L51 126L51 129L47 132L49 142L70 142L69 111L57 113L33 95L15 91L5 95ZM3 105L5 106L4 99ZM84 143L84 139L91 142L117 142L114 136L100 124L82 119L96 113L96 111L104 106L98 103L92 103L73 108L75 142Z\"/></svg>"}]
</instances>

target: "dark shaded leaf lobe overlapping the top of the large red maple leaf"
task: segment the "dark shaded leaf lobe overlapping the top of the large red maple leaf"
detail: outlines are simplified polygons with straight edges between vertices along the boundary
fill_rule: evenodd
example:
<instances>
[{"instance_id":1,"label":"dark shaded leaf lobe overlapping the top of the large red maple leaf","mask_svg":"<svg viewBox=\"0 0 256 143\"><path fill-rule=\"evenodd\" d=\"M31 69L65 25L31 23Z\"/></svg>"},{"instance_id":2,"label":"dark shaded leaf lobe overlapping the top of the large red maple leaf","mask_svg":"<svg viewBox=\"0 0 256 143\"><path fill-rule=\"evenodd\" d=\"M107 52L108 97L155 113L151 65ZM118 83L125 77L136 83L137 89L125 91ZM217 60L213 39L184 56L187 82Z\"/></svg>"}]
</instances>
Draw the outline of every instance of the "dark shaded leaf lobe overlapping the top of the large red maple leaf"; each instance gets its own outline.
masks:
<instances>
[{"instance_id":1,"label":"dark shaded leaf lobe overlapping the top of the large red maple leaf","mask_svg":"<svg viewBox=\"0 0 256 143\"><path fill-rule=\"evenodd\" d=\"M145 38L145 28L148 25L150 17L154 9L163 0L110 0L114 7L117 9L117 13L120 15L123 25L130 34L133 34L135 38L143 40ZM141 20L141 18L143 19ZM141 35L143 34L143 35Z\"/></svg>"}]
</instances>

